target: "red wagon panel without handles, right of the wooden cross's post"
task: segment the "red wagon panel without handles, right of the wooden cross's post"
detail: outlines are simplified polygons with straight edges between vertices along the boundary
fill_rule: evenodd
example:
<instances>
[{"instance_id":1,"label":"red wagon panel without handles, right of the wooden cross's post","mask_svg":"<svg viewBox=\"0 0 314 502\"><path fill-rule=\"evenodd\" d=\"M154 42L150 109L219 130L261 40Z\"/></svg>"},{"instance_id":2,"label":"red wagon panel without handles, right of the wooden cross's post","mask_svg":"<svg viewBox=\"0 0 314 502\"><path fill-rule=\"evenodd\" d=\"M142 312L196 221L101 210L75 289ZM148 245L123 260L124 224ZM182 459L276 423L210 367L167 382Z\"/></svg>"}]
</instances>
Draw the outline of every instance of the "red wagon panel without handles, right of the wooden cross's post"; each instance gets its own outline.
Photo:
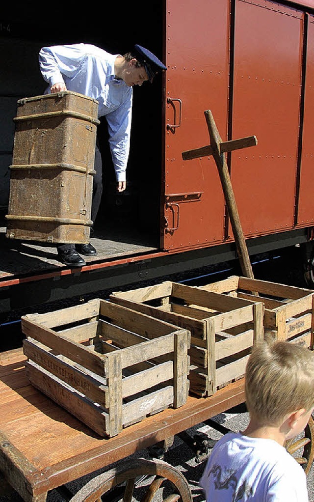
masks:
<instances>
[{"instance_id":1,"label":"red wagon panel without handles, right of the wooden cross's post","mask_svg":"<svg viewBox=\"0 0 314 502\"><path fill-rule=\"evenodd\" d=\"M247 237L293 227L303 16L268 0L236 2L232 136L258 139L232 154Z\"/></svg>"}]
</instances>

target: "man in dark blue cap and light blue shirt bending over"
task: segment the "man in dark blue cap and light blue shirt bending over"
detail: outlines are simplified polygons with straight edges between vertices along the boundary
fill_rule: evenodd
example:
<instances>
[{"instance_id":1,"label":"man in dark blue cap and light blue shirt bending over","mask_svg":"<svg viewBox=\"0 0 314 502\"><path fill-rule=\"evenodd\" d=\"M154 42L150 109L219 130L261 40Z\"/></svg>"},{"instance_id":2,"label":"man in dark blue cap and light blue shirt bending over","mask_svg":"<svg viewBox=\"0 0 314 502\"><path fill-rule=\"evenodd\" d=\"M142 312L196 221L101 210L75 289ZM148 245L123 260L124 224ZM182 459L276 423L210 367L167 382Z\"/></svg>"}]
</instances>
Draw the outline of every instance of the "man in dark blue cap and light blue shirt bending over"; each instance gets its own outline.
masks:
<instances>
[{"instance_id":1,"label":"man in dark blue cap and light blue shirt bending over","mask_svg":"<svg viewBox=\"0 0 314 502\"><path fill-rule=\"evenodd\" d=\"M140 45L135 45L132 53L124 56L109 54L89 44L43 47L39 64L49 84L46 92L70 90L98 101L98 117L105 116L108 124L117 190L123 192L130 146L132 87L141 86L147 80L152 82L155 74L167 67ZM92 221L97 216L102 194L102 162L97 143L94 170ZM79 253L89 257L97 255L90 243L58 244L57 248L60 261L70 267L86 265Z\"/></svg>"}]
</instances>

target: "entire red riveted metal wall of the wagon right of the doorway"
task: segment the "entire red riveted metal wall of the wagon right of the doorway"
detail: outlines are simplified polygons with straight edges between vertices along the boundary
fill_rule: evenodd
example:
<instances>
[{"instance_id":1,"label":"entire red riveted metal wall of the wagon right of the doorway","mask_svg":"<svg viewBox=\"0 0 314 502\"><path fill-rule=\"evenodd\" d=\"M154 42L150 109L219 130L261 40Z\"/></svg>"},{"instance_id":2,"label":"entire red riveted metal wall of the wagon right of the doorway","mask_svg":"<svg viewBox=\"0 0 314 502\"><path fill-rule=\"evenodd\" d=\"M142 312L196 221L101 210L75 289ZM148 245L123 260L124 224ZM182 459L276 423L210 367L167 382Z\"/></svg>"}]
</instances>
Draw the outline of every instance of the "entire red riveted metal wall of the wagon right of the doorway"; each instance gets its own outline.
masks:
<instances>
[{"instance_id":1,"label":"entire red riveted metal wall of the wagon right of the doorway","mask_svg":"<svg viewBox=\"0 0 314 502\"><path fill-rule=\"evenodd\" d=\"M222 138L258 139L230 161L245 236L312 224L314 18L308 2L297 4L198 2L188 16L169 2L166 97L182 101L182 119L175 134L166 134L165 195L170 203L176 193L191 202L177 201L179 227L166 227L165 248L231 238L215 164L181 159L183 150L208 144L207 108ZM167 124L173 120L168 104ZM172 222L174 212L166 204L165 220Z\"/></svg>"}]
</instances>

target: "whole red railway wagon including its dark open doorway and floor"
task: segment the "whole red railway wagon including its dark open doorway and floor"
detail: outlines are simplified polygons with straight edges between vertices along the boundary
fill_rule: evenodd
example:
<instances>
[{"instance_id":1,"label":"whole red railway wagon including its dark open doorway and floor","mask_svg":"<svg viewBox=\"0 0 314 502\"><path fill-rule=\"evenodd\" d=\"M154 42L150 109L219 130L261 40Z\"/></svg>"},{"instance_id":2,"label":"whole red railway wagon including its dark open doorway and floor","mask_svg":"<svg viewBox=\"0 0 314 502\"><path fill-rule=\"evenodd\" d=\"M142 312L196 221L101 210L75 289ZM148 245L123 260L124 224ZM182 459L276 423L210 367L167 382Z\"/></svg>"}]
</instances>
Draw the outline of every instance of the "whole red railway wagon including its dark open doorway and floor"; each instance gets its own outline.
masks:
<instances>
[{"instance_id":1,"label":"whole red railway wagon including its dark open doorway and floor","mask_svg":"<svg viewBox=\"0 0 314 502\"><path fill-rule=\"evenodd\" d=\"M140 245L111 254L105 249L80 272L57 261L45 262L45 253L39 259L37 248L35 254L29 252L37 260L30 261L28 254L27 264L20 260L18 269L17 260L8 259L12 243L3 233L7 261L0 266L1 312L235 258L213 158L182 159L183 151L209 144L207 109L223 141L251 135L258 140L257 146L228 156L250 255L298 243L310 258L312 0L152 0L149 9L143 2L126 12L106 6L101 16L73 9L62 16L56 11L43 16L30 7L9 11L0 23L0 51L6 62L0 82L4 212L16 101L45 89L37 63L40 47L87 42L123 53L140 43L163 59L168 70L151 86L134 89L128 188L123 195L115 193L105 123L98 131L105 196L96 234L98 229L99 241L105 236L111 243L126 242L127 234L133 242L136 235Z\"/></svg>"}]
</instances>

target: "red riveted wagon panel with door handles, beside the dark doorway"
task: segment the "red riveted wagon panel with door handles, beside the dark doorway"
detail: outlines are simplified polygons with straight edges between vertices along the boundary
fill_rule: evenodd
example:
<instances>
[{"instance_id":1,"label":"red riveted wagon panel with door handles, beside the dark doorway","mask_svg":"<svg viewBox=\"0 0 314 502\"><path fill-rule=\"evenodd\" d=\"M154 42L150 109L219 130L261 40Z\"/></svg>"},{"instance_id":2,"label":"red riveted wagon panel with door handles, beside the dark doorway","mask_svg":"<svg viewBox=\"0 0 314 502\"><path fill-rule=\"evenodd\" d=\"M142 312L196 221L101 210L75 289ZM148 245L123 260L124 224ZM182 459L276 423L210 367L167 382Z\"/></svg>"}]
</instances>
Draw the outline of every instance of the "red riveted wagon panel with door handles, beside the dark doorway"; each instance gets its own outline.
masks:
<instances>
[{"instance_id":1,"label":"red riveted wagon panel with door handles, beside the dark doorway","mask_svg":"<svg viewBox=\"0 0 314 502\"><path fill-rule=\"evenodd\" d=\"M224 198L216 166L208 158L184 162L181 154L209 144L206 109L212 109L226 138L230 2L168 0L166 12L161 246L175 250L223 239Z\"/></svg>"}]
</instances>

